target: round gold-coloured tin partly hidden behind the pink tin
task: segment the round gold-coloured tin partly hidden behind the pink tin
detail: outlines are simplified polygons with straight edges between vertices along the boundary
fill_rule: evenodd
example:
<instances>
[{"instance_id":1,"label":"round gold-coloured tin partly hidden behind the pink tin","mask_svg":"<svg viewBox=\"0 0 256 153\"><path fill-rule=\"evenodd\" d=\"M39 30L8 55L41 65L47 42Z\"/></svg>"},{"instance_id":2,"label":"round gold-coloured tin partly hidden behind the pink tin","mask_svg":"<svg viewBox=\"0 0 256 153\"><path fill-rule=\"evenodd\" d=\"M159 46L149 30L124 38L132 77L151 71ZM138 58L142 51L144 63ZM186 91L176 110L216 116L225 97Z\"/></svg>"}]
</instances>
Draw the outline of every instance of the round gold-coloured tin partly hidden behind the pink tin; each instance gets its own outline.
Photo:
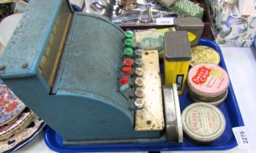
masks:
<instances>
[{"instance_id":1,"label":"round gold-coloured tin partly hidden behind the pink tin","mask_svg":"<svg viewBox=\"0 0 256 153\"><path fill-rule=\"evenodd\" d=\"M219 53L211 47L195 46L191 48L192 59L190 66L195 66L199 63L213 63L219 65Z\"/></svg>"}]
</instances>

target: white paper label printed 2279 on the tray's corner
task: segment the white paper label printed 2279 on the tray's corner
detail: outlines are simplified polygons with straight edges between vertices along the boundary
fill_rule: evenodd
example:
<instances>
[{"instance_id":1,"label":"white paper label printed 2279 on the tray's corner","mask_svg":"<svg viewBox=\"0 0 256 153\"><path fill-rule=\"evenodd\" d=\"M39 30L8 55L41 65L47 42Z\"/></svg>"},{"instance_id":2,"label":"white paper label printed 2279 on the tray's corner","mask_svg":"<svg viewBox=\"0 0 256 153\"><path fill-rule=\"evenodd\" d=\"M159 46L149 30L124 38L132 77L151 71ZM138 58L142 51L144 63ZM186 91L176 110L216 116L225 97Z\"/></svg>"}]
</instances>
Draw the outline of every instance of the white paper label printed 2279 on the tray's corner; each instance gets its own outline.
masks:
<instances>
[{"instance_id":1,"label":"white paper label printed 2279 on the tray's corner","mask_svg":"<svg viewBox=\"0 0 256 153\"><path fill-rule=\"evenodd\" d=\"M251 141L249 140L248 133L244 126L242 127L233 127L233 133L236 137L239 149L252 149Z\"/></svg>"}]
</instances>

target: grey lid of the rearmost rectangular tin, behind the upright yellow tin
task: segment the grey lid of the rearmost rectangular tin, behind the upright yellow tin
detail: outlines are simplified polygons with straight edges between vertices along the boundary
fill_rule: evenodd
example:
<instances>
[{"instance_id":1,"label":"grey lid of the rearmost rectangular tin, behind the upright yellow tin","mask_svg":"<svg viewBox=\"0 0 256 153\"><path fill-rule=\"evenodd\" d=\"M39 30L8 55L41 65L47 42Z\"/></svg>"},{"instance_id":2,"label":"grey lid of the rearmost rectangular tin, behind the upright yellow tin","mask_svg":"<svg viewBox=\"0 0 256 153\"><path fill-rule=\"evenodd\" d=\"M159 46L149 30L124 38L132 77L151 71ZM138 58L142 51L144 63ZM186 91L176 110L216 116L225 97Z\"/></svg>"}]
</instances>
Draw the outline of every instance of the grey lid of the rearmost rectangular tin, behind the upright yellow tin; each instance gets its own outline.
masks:
<instances>
[{"instance_id":1,"label":"grey lid of the rearmost rectangular tin, behind the upright yellow tin","mask_svg":"<svg viewBox=\"0 0 256 153\"><path fill-rule=\"evenodd\" d=\"M177 30L203 29L204 23L200 17L178 17L175 18Z\"/></svg>"}]
</instances>

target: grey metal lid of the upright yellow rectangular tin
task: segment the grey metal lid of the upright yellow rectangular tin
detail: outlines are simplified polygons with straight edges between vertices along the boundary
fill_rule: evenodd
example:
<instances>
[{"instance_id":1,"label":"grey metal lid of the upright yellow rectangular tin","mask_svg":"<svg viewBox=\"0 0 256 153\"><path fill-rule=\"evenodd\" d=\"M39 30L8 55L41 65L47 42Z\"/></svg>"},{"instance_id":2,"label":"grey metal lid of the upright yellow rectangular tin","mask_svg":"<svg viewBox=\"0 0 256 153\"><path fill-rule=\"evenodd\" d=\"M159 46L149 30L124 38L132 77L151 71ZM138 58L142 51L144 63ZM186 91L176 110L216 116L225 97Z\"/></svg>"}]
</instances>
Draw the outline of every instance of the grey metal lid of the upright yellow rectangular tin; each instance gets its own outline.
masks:
<instances>
[{"instance_id":1,"label":"grey metal lid of the upright yellow rectangular tin","mask_svg":"<svg viewBox=\"0 0 256 153\"><path fill-rule=\"evenodd\" d=\"M191 60L187 31L165 32L165 60Z\"/></svg>"}]
</instances>

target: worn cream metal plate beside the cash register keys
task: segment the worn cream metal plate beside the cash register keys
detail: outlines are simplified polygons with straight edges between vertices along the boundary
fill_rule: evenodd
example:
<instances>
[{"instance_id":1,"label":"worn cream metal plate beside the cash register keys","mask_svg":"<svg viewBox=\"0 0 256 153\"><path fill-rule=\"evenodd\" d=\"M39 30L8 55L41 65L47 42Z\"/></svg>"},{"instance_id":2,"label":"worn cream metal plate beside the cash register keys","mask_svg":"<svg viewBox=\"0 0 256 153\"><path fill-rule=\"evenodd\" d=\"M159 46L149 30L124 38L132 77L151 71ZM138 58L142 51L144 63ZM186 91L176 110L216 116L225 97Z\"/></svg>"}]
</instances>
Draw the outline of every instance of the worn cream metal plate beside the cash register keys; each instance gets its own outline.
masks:
<instances>
[{"instance_id":1,"label":"worn cream metal plate beside the cash register keys","mask_svg":"<svg viewBox=\"0 0 256 153\"><path fill-rule=\"evenodd\" d=\"M135 113L135 130L162 130L165 127L162 85L157 50L143 52L144 106Z\"/></svg>"}]
</instances>

